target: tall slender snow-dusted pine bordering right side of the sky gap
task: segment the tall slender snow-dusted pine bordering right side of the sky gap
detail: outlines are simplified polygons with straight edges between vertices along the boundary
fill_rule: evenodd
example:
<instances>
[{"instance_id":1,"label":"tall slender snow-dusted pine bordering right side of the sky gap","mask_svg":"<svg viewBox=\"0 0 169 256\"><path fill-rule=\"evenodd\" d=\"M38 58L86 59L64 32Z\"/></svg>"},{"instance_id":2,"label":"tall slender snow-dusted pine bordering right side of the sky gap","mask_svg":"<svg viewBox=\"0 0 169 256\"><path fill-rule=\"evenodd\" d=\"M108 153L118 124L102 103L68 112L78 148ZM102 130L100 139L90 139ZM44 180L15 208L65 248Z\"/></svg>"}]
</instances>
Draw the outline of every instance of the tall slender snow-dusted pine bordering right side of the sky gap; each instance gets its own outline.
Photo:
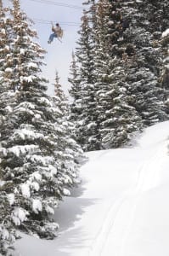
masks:
<instances>
[{"instance_id":1,"label":"tall slender snow-dusted pine bordering right side of the sky gap","mask_svg":"<svg viewBox=\"0 0 169 256\"><path fill-rule=\"evenodd\" d=\"M79 32L80 38L76 47L76 58L78 65L78 79L81 101L78 101L79 115L76 121L77 142L84 150L99 149L97 140L97 124L95 116L96 99L93 84L95 74L93 69L93 39L91 37L92 27L89 24L87 11L82 16L82 29ZM71 90L72 94L72 90ZM76 104L76 102L73 102ZM78 106L77 106L78 108Z\"/></svg>"}]
</instances>

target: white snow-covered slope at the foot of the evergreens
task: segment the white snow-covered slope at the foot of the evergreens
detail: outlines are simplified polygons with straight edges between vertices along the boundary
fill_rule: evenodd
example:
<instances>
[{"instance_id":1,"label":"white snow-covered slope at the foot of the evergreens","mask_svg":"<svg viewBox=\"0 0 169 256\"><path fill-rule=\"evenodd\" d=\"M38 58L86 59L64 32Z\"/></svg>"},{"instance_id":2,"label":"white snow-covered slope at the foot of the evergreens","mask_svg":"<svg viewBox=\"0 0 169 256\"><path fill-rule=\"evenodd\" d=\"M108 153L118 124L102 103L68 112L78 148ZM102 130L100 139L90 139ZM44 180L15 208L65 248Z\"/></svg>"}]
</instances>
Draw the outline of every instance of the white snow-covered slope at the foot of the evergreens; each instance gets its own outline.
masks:
<instances>
[{"instance_id":1,"label":"white snow-covered slope at the foot of the evergreens","mask_svg":"<svg viewBox=\"0 0 169 256\"><path fill-rule=\"evenodd\" d=\"M25 236L22 256L168 256L169 122L146 129L133 148L88 153L82 184L55 212L59 236ZM16 253L16 255L19 255Z\"/></svg>"}]
</instances>

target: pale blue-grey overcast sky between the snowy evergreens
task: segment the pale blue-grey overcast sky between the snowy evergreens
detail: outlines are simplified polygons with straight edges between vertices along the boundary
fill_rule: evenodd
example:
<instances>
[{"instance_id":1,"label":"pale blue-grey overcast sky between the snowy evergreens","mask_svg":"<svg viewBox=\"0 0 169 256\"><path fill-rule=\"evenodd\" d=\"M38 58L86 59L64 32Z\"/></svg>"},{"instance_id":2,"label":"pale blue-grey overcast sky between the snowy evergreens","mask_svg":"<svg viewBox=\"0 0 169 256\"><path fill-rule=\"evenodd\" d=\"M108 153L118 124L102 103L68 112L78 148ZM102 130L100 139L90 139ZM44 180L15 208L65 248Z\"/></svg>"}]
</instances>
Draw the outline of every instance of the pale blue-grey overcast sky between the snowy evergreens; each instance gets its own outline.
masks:
<instances>
[{"instance_id":1,"label":"pale blue-grey overcast sky between the snowy evergreens","mask_svg":"<svg viewBox=\"0 0 169 256\"><path fill-rule=\"evenodd\" d=\"M38 43L48 51L45 56L47 66L43 67L43 75L50 80L48 87L50 95L54 92L52 84L54 84L56 70L59 72L60 84L62 84L65 92L70 86L67 78L69 76L71 53L76 47L77 31L79 31L82 17L82 9L58 6L56 4L75 5L83 8L83 2L84 0L20 0L21 9L36 22L33 28L37 30ZM3 3L8 3L8 0L3 0ZM64 29L63 43L54 38L54 42L48 44L51 25L38 23L37 20L41 20L41 22L42 20L53 20L54 23L59 22ZM76 22L76 26L70 26L70 22Z\"/></svg>"}]
</instances>

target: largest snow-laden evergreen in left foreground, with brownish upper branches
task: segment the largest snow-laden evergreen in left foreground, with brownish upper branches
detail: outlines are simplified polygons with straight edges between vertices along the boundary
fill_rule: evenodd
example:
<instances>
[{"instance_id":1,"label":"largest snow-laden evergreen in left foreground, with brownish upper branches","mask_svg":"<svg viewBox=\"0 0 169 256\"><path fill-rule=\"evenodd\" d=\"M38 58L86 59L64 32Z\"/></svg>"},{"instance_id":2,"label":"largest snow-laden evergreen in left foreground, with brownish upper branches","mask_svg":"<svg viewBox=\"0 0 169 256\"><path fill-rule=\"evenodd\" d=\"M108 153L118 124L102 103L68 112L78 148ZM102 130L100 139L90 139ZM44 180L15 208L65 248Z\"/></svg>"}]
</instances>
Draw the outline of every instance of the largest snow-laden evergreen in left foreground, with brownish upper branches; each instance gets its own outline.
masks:
<instances>
[{"instance_id":1,"label":"largest snow-laden evergreen in left foreground, with brownish upper branches","mask_svg":"<svg viewBox=\"0 0 169 256\"><path fill-rule=\"evenodd\" d=\"M10 199L8 219L14 228L53 238L58 224L51 216L76 180L76 163L70 151L66 152L67 144L59 151L58 117L46 94L47 80L41 76L45 51L33 41L37 34L20 10L20 1L12 3L13 35L8 57L14 67L14 77L10 79L14 102L5 115L7 129L1 129L1 193L4 199ZM58 129L61 131L62 127ZM75 147L72 140L67 143Z\"/></svg>"}]
</instances>

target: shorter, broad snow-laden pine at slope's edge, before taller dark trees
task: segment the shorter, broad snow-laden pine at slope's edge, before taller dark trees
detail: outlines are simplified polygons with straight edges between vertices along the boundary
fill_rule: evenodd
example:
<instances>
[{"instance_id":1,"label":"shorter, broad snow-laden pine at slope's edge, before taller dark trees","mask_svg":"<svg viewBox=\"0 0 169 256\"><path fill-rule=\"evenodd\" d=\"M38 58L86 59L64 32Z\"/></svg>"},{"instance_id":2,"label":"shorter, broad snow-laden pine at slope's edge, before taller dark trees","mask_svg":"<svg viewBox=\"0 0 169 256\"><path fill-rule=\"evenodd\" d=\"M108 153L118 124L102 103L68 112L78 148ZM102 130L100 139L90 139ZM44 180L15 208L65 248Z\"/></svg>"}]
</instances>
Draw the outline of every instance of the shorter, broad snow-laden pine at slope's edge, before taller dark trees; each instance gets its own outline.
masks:
<instances>
[{"instance_id":1,"label":"shorter, broad snow-laden pine at slope's edge, before taller dark trees","mask_svg":"<svg viewBox=\"0 0 169 256\"><path fill-rule=\"evenodd\" d=\"M100 122L100 137L103 148L119 148L127 144L134 133L142 129L142 120L135 108L129 105L128 84L123 78L123 68L119 61L113 61L113 73L107 75L103 83L105 90L100 90L101 106L104 107ZM106 80L107 79L107 80ZM100 106L99 105L99 106Z\"/></svg>"}]
</instances>

